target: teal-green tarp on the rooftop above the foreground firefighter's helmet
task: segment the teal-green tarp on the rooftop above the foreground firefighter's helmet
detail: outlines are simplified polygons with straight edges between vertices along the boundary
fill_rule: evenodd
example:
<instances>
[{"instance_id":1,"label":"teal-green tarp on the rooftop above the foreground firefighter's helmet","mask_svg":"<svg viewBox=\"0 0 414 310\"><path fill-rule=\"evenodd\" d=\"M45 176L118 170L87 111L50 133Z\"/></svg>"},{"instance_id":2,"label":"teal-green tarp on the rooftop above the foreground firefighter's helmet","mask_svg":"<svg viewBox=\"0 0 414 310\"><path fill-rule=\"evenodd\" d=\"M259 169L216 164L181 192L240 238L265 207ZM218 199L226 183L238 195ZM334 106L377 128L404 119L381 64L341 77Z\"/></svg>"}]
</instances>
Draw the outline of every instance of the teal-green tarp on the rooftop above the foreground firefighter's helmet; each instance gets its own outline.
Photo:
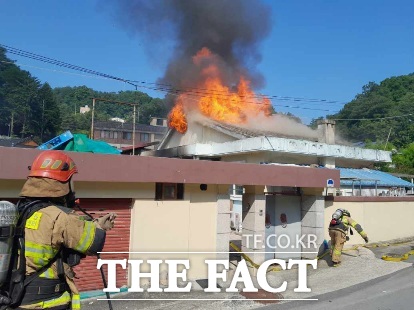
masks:
<instances>
[{"instance_id":1,"label":"teal-green tarp on the rooftop above the foreground firefighter's helmet","mask_svg":"<svg viewBox=\"0 0 414 310\"><path fill-rule=\"evenodd\" d=\"M83 134L73 134L71 139L64 148L65 151L71 152L89 152L99 154L120 154L121 151L109 145L104 141L91 140Z\"/></svg>"}]
</instances>

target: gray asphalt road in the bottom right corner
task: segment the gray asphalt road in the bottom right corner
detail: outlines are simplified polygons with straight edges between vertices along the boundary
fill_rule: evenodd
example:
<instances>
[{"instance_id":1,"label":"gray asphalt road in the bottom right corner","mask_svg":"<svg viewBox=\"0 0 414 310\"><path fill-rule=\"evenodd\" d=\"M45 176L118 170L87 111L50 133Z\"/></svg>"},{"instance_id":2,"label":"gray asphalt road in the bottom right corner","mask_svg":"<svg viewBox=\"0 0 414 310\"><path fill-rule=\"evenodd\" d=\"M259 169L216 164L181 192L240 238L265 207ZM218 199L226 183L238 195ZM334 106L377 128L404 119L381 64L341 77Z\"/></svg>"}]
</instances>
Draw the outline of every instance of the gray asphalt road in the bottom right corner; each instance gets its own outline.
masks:
<instances>
[{"instance_id":1,"label":"gray asphalt road in the bottom right corner","mask_svg":"<svg viewBox=\"0 0 414 310\"><path fill-rule=\"evenodd\" d=\"M346 281L346 273L343 277L338 281ZM260 309L411 310L414 309L414 268L408 267L384 277L314 298L318 300L293 301Z\"/></svg>"}]
</instances>

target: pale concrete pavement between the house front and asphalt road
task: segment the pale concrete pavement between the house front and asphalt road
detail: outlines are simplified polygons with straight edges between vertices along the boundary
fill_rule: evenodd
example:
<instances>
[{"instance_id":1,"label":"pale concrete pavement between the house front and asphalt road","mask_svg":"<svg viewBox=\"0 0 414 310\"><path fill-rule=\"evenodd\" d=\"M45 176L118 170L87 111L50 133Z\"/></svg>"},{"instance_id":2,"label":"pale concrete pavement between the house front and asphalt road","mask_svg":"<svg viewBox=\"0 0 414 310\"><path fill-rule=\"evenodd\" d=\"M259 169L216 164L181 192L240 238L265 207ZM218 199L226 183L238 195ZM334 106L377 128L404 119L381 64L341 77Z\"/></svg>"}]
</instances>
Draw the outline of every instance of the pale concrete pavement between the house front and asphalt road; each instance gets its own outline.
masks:
<instances>
[{"instance_id":1,"label":"pale concrete pavement between the house front and asphalt road","mask_svg":"<svg viewBox=\"0 0 414 310\"><path fill-rule=\"evenodd\" d=\"M280 286L283 281L288 282L287 290L281 295L261 296L256 295L253 298L274 298L282 299L273 304L272 308L278 309L280 307L291 308L297 301L287 303L287 299L306 299L306 298L318 298L332 292L339 290L346 290L350 287L362 285L361 283L373 280L383 279L381 277L393 274L407 268L412 265L414 258L411 256L408 261L405 262L388 262L382 260L380 257L385 254L403 254L414 247L414 242L399 244L396 246L388 246L381 248L364 248L360 247L357 250L347 250L343 253L342 266L333 268L330 267L329 255L318 261L318 268L313 270L308 268L308 287L312 289L309 293L295 293L294 288L297 287L297 270L287 270L280 272L270 272L268 274L268 281L271 286ZM230 272L231 274L231 272ZM257 283L255 283L257 284ZM222 287L228 285L228 283L220 283ZM178 294L178 293L121 293L113 295L113 309L254 309L263 307L264 304L251 299L246 299L244 296L238 293L205 293L198 283L193 283L191 293ZM334 294L334 293L333 293ZM409 297L407 294L401 292L402 297ZM105 296L99 296L82 301L83 309L108 309L107 301L98 300L98 298L105 298ZM136 300L123 300L123 299L136 299ZM198 299L198 300L196 300ZM203 300L200 300L203 299ZM204 300L208 299L208 300ZM307 307L315 306L315 302L305 300L300 301L300 305L303 309ZM283 308L283 309L288 309ZM358 307L354 307L357 309ZM315 308L316 309L316 308ZM378 308L383 309L383 308ZM395 308L396 309L396 308ZM403 309L403 308L402 308Z\"/></svg>"}]
</instances>

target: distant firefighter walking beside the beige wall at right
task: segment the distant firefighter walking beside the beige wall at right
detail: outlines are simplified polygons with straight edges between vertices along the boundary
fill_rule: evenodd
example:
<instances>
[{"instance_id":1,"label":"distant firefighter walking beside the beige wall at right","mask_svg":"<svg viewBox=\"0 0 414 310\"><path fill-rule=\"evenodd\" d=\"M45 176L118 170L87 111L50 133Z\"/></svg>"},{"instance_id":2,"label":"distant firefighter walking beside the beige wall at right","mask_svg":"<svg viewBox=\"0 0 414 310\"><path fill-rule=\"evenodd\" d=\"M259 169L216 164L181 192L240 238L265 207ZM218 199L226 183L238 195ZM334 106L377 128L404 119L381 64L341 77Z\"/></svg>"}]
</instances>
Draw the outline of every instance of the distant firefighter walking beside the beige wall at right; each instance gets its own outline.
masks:
<instances>
[{"instance_id":1,"label":"distant firefighter walking beside the beige wall at right","mask_svg":"<svg viewBox=\"0 0 414 310\"><path fill-rule=\"evenodd\" d=\"M355 228L365 242L368 243L367 234L364 232L361 225L351 218L349 211L345 209L336 210L335 213L332 214L332 220L329 224L333 267L337 267L341 263L342 248L344 247L345 241L348 240L348 231L350 227Z\"/></svg>"}]
</instances>

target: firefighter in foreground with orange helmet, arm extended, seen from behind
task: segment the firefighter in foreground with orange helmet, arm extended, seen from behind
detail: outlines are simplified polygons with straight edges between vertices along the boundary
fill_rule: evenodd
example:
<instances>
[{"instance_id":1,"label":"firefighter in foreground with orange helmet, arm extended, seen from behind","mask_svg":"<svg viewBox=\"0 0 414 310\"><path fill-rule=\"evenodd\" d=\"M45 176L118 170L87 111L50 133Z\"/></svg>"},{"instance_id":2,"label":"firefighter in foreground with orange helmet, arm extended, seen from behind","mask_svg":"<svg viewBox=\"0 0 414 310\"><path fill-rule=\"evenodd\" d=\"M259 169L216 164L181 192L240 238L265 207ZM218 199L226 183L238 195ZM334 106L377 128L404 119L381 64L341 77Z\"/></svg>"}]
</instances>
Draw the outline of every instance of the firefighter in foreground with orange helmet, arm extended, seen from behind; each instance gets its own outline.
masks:
<instances>
[{"instance_id":1,"label":"firefighter in foreground with orange helmet, arm extended, seen from behind","mask_svg":"<svg viewBox=\"0 0 414 310\"><path fill-rule=\"evenodd\" d=\"M84 255L102 251L116 214L94 221L77 215L73 210L75 173L75 163L61 151L42 152L30 167L18 208L21 211L36 201L43 207L27 219L24 228L26 278L48 268L25 288L19 308L80 309L72 267Z\"/></svg>"}]
</instances>

